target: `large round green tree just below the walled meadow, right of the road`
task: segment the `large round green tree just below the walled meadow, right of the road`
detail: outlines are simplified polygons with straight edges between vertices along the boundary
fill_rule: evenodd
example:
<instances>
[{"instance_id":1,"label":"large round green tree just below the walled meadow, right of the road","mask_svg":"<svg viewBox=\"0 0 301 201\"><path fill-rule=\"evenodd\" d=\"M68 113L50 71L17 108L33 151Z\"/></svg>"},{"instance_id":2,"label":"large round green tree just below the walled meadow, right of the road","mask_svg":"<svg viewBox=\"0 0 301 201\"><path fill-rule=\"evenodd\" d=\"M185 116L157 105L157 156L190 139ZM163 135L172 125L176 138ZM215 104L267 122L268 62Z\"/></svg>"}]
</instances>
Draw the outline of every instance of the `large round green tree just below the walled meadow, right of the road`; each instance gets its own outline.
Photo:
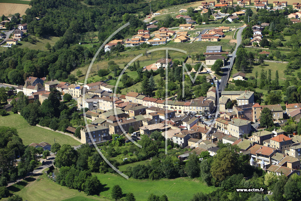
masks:
<instances>
[{"instance_id":1,"label":"large round green tree just below the walled meadow, right of the road","mask_svg":"<svg viewBox=\"0 0 301 201\"><path fill-rule=\"evenodd\" d=\"M63 144L61 149L57 151L57 155L54 160L56 167L71 166L76 163L77 152L69 144Z\"/></svg>"}]
</instances>

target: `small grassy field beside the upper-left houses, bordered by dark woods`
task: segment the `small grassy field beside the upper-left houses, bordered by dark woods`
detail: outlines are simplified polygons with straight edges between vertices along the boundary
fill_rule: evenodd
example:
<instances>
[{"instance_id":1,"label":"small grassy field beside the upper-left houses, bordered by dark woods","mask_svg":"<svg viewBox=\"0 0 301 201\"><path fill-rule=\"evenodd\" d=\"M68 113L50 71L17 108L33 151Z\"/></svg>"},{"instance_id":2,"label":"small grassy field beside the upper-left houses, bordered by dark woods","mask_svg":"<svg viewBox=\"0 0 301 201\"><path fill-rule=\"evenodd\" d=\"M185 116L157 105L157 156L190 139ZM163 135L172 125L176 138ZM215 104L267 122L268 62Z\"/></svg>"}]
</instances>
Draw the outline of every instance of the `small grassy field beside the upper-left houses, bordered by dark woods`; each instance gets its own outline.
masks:
<instances>
[{"instance_id":1,"label":"small grassy field beside the upper-left houses, bordered by dark woods","mask_svg":"<svg viewBox=\"0 0 301 201\"><path fill-rule=\"evenodd\" d=\"M34 39L36 39L36 42L30 43L30 42L26 42L26 41L19 41L18 45L20 48L29 48L29 49L36 49L36 50L43 50L46 51L47 48L45 48L45 44L47 42L49 42L49 44L52 46L54 46L55 42L58 41L58 39L60 39L60 37L56 37L56 36L43 36L42 37L36 37L36 36L31 36Z\"/></svg>"}]
</instances>

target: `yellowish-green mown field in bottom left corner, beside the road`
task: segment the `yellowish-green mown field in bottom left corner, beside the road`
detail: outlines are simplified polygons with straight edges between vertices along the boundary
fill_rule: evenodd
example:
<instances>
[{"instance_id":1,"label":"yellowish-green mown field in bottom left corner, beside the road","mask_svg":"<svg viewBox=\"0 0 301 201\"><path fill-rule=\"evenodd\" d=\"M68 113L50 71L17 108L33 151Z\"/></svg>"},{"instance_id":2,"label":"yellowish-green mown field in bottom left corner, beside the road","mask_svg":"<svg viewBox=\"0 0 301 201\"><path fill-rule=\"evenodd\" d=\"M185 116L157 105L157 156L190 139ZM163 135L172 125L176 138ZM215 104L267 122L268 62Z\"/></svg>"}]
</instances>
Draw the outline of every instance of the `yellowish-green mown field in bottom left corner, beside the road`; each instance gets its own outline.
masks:
<instances>
[{"instance_id":1,"label":"yellowish-green mown field in bottom left corner, beside the road","mask_svg":"<svg viewBox=\"0 0 301 201\"><path fill-rule=\"evenodd\" d=\"M37 178L40 180L37 181ZM15 192L15 194L22 196L23 200L108 200L98 196L87 196L84 192L79 192L78 190L69 189L68 187L58 185L52 180L48 179L46 174L43 174L39 177L34 177L30 180L30 182L23 181L22 188L9 187L11 193ZM7 199L2 198L1 200Z\"/></svg>"}]
</instances>

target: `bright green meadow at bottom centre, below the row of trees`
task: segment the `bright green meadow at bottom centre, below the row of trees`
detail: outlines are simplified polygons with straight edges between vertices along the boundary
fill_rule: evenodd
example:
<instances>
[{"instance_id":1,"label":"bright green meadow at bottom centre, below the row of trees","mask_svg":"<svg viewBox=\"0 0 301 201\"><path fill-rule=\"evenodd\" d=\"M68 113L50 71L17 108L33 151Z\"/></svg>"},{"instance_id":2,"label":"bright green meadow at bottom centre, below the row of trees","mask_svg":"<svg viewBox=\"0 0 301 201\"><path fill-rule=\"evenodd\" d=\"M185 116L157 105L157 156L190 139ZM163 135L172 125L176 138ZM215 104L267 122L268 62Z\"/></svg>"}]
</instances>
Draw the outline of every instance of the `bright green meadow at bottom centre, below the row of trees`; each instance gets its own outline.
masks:
<instances>
[{"instance_id":1,"label":"bright green meadow at bottom centre, below the row of trees","mask_svg":"<svg viewBox=\"0 0 301 201\"><path fill-rule=\"evenodd\" d=\"M147 197L153 193L155 195L166 194L169 200L182 201L190 200L194 193L204 192L210 193L216 190L216 187L208 187L199 179L176 178L161 179L157 181L136 180L129 178L128 180L116 174L96 174L101 184L105 185L104 190L100 193L103 197L110 197L111 189L118 184L123 193L133 193L136 200L147 200Z\"/></svg>"}]
</instances>

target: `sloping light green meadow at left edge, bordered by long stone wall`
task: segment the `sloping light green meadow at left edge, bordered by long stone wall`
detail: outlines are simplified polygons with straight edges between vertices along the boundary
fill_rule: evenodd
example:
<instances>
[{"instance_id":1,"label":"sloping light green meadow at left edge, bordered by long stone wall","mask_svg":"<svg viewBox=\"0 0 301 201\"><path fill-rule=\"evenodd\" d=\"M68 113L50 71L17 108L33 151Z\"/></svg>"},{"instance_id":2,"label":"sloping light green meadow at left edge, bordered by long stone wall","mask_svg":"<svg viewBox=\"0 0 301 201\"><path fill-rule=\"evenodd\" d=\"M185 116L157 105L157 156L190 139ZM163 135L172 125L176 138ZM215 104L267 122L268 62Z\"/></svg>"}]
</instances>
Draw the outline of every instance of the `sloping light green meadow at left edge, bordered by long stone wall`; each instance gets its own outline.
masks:
<instances>
[{"instance_id":1,"label":"sloping light green meadow at left edge, bordered by long stone wall","mask_svg":"<svg viewBox=\"0 0 301 201\"><path fill-rule=\"evenodd\" d=\"M57 133L45 128L30 126L27 121L18 114L8 112L7 116L0 116L0 125L17 128L19 136L23 140L25 146L31 143L47 142L50 144L55 142L62 144L70 144L71 146L80 145L81 143L70 136Z\"/></svg>"}]
</instances>

